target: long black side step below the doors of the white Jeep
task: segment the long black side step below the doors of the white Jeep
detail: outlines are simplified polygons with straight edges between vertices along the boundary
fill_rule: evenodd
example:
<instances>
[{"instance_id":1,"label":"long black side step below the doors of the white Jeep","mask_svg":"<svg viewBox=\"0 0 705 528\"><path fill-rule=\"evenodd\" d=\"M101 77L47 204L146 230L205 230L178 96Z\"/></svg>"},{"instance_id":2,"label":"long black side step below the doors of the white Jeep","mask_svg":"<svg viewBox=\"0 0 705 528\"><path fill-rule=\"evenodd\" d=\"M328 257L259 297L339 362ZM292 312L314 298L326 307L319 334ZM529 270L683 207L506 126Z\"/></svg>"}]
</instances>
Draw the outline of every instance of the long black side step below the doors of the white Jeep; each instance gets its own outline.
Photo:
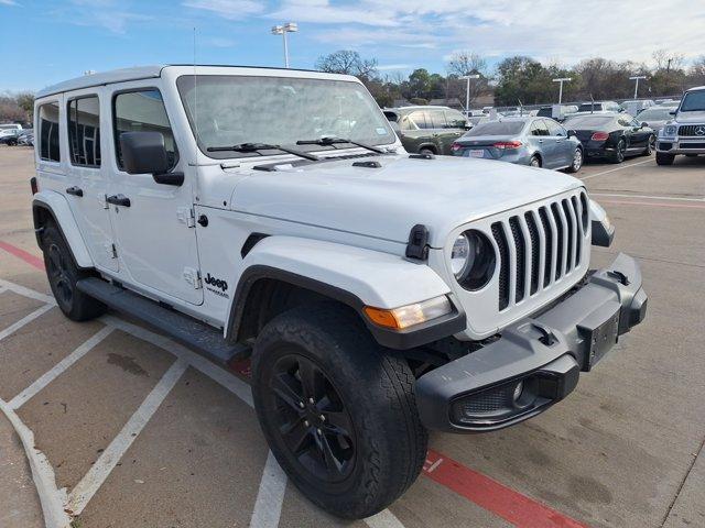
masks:
<instances>
[{"instance_id":1,"label":"long black side step below the doors of the white Jeep","mask_svg":"<svg viewBox=\"0 0 705 528\"><path fill-rule=\"evenodd\" d=\"M250 354L249 346L227 343L220 330L100 278L83 278L76 287L110 308L167 333L223 366Z\"/></svg>"}]
</instances>

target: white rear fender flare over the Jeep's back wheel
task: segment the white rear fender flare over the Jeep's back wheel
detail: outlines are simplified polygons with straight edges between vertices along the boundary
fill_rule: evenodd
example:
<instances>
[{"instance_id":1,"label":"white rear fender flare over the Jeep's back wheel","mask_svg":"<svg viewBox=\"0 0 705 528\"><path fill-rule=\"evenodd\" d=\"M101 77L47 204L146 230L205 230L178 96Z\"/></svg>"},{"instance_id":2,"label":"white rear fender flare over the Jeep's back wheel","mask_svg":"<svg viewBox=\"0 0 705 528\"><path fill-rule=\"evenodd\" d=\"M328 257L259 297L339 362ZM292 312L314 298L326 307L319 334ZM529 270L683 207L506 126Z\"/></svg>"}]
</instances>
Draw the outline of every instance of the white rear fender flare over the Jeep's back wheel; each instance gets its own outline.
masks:
<instances>
[{"instance_id":1,"label":"white rear fender flare over the Jeep's back wheel","mask_svg":"<svg viewBox=\"0 0 705 528\"><path fill-rule=\"evenodd\" d=\"M93 268L93 258L90 257L90 253L88 253L86 242L80 235L80 230L78 229L78 224L66 198L53 190L42 190L34 195L32 200L32 217L34 219L36 243L40 249L42 248L42 230L44 229L45 222L43 219L44 215L54 220L54 223L68 245L76 267L79 270Z\"/></svg>"}]
</instances>

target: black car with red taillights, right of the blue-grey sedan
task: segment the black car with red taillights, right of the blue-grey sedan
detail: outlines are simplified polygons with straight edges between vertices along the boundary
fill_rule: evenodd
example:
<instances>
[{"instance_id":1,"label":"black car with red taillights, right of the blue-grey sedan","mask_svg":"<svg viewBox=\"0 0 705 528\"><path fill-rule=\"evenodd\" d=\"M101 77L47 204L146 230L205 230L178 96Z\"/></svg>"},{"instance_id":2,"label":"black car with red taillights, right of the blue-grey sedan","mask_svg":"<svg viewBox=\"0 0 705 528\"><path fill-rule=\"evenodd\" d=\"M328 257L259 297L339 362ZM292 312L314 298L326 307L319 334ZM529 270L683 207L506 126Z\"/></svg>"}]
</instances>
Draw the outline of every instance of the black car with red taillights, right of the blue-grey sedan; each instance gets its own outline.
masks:
<instances>
[{"instance_id":1,"label":"black car with red taillights, right of the blue-grey sedan","mask_svg":"<svg viewBox=\"0 0 705 528\"><path fill-rule=\"evenodd\" d=\"M583 113L570 117L563 125L575 131L586 158L621 163L627 156L649 156L655 148L653 129L628 113Z\"/></svg>"}]
</instances>

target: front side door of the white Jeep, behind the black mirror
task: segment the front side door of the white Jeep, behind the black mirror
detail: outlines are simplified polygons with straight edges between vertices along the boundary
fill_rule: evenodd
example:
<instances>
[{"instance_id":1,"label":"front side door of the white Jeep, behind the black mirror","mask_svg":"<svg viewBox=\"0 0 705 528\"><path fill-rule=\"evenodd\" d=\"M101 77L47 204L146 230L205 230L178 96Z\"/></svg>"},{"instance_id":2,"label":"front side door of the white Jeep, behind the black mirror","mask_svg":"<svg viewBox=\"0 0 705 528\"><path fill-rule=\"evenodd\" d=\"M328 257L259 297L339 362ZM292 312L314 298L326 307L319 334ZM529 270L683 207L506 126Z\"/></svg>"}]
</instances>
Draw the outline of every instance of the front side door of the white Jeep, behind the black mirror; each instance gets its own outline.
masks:
<instances>
[{"instance_id":1,"label":"front side door of the white Jeep, behind the black mirror","mask_svg":"<svg viewBox=\"0 0 705 528\"><path fill-rule=\"evenodd\" d=\"M120 272L126 282L191 304L203 302L193 194L188 165L159 88L133 82L112 94L108 202L115 226ZM161 185L150 174L123 170L120 134L160 132L173 170L185 173L181 186Z\"/></svg>"}]
</instances>

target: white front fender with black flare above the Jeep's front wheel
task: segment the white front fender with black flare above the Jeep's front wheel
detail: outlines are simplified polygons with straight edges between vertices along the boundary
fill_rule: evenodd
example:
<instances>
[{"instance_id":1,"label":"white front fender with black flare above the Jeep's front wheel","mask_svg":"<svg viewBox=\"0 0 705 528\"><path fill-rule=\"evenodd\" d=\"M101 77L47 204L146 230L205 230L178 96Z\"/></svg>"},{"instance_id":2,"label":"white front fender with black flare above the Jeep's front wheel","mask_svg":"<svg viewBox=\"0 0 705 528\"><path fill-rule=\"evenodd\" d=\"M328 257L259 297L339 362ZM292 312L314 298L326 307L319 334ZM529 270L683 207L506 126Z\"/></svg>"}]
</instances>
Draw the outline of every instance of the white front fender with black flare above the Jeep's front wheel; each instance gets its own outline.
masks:
<instances>
[{"instance_id":1,"label":"white front fender with black flare above the Jeep's front wheel","mask_svg":"<svg viewBox=\"0 0 705 528\"><path fill-rule=\"evenodd\" d=\"M426 344L459 333L466 327L459 304L445 282L425 263L334 242L269 237L261 240L242 262L225 327L227 340L237 340L249 295L260 279L289 283L349 306L377 342L392 349ZM398 308L442 295L451 297L452 314L404 330L379 327L362 311L365 306Z\"/></svg>"}]
</instances>

